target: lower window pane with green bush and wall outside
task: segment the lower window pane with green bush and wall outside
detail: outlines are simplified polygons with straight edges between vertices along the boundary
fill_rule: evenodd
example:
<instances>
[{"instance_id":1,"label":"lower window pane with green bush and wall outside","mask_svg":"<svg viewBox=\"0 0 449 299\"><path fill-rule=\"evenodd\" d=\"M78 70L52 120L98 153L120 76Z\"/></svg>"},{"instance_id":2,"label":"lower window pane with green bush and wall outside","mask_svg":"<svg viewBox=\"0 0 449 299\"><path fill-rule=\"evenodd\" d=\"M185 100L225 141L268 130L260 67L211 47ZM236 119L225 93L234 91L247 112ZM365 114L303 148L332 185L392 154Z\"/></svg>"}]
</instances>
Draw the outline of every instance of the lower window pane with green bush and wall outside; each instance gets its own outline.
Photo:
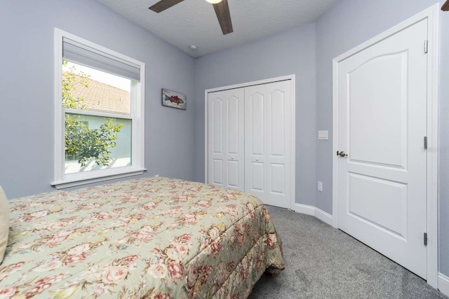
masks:
<instances>
[{"instance_id":1,"label":"lower window pane with green bush and wall outside","mask_svg":"<svg viewBox=\"0 0 449 299\"><path fill-rule=\"evenodd\" d=\"M65 114L65 174L131 165L131 120Z\"/></svg>"}]
</instances>

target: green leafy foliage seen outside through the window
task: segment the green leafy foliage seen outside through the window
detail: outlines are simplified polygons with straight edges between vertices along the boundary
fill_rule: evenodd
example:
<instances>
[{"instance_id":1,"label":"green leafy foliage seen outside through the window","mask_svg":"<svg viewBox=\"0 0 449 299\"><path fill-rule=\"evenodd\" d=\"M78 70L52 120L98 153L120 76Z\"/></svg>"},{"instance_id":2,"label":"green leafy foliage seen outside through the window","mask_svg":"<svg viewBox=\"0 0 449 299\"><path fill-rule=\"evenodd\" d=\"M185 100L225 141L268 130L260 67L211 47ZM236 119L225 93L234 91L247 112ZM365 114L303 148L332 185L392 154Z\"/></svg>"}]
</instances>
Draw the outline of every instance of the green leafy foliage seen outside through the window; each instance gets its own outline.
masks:
<instances>
[{"instance_id":1,"label":"green leafy foliage seen outside through the window","mask_svg":"<svg viewBox=\"0 0 449 299\"><path fill-rule=\"evenodd\" d=\"M67 61L62 62L67 65ZM70 68L70 72L62 74L62 107L67 109L87 110L84 99L74 97L72 92L76 90L75 67ZM82 72L81 85L88 88L88 76ZM105 123L100 125L100 129L89 129L86 123L81 121L81 116L65 115L65 155L74 155L79 158L78 162L82 167L92 158L97 165L109 165L110 148L116 147L117 134L123 127L122 124L114 123L114 118L107 118Z\"/></svg>"}]
</instances>

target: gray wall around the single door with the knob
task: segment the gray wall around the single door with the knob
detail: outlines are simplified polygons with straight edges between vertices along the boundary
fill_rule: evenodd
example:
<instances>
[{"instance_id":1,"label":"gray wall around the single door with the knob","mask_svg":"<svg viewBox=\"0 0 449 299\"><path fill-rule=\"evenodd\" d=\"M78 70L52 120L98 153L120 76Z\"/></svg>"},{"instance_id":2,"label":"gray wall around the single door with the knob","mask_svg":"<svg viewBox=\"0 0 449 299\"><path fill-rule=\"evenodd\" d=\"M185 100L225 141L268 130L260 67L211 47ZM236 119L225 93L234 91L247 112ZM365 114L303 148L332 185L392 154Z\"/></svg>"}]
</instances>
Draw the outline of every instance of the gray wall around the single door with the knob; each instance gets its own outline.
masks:
<instances>
[{"instance_id":1,"label":"gray wall around the single door with the knob","mask_svg":"<svg viewBox=\"0 0 449 299\"><path fill-rule=\"evenodd\" d=\"M443 2L443 1L442 1ZM344 0L316 22L316 125L332 130L332 60L435 4L435 0ZM449 275L449 13L440 13L440 272ZM332 213L332 142L316 146L316 179L325 192L316 192L316 207Z\"/></svg>"}]
</instances>

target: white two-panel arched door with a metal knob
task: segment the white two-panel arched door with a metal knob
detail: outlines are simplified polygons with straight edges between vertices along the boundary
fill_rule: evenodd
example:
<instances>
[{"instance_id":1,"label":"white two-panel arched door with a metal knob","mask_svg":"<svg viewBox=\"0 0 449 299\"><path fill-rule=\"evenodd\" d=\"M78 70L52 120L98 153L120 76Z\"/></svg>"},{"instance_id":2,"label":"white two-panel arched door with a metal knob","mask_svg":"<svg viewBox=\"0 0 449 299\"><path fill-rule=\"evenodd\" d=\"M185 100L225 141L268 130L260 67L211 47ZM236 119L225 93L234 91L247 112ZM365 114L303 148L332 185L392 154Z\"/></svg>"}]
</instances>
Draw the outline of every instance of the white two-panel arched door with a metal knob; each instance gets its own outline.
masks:
<instances>
[{"instance_id":1,"label":"white two-panel arched door with a metal knob","mask_svg":"<svg viewBox=\"0 0 449 299\"><path fill-rule=\"evenodd\" d=\"M338 227L424 279L425 40L422 20L337 66Z\"/></svg>"}]
</instances>

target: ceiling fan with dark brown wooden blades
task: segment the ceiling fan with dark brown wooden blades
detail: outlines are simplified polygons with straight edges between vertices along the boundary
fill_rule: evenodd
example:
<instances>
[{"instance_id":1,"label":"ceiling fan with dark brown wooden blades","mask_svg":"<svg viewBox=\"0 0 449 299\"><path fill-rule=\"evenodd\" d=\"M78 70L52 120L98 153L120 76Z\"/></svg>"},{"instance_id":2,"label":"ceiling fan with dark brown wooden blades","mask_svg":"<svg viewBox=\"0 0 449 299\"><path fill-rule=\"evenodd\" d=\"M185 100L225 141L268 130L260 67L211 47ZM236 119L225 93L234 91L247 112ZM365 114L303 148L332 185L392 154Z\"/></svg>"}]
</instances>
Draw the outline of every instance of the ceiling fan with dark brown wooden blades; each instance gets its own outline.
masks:
<instances>
[{"instance_id":1,"label":"ceiling fan with dark brown wooden blades","mask_svg":"<svg viewBox=\"0 0 449 299\"><path fill-rule=\"evenodd\" d=\"M161 0L149 7L149 9L156 13L160 13L161 11L165 11L167 8L175 6L182 1L184 0ZM223 35L233 32L234 30L232 29L231 15L229 14L227 0L206 1L213 4L213 8L215 10L215 14L217 15L218 22L220 23L220 27L222 28Z\"/></svg>"}]
</instances>

